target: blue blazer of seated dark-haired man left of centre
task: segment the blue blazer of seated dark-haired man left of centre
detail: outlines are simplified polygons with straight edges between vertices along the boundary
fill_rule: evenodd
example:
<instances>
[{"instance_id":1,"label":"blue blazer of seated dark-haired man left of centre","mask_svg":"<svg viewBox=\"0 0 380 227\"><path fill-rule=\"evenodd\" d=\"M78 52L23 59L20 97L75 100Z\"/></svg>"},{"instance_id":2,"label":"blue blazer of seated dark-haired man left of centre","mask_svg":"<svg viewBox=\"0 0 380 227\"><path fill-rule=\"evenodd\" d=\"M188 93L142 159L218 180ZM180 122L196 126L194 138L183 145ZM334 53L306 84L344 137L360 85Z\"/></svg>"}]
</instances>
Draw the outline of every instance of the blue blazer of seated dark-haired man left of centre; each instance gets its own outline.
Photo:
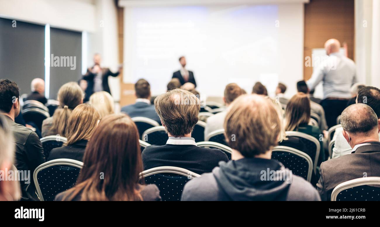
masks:
<instances>
[{"instance_id":1,"label":"blue blazer of seated dark-haired man left of centre","mask_svg":"<svg viewBox=\"0 0 380 227\"><path fill-rule=\"evenodd\" d=\"M128 114L131 118L147 117L157 121L161 125L160 117L158 117L154 106L146 102L136 102L135 104L124 106L121 108L121 112Z\"/></svg>"}]
</instances>

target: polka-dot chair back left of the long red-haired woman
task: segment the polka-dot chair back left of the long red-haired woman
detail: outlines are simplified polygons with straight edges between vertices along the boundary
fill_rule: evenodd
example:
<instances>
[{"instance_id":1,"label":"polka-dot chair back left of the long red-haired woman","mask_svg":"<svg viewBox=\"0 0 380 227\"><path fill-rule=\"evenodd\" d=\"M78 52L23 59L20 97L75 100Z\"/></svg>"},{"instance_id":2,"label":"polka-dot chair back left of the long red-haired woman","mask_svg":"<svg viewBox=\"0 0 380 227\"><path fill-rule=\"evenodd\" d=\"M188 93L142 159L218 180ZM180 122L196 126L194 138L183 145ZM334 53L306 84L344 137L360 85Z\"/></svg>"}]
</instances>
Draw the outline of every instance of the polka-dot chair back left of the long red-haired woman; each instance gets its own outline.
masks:
<instances>
[{"instance_id":1,"label":"polka-dot chair back left of the long red-haired woman","mask_svg":"<svg viewBox=\"0 0 380 227\"><path fill-rule=\"evenodd\" d=\"M54 201L55 195L73 187L83 162L60 158L45 162L33 173L37 195L41 201Z\"/></svg>"}]
</instances>

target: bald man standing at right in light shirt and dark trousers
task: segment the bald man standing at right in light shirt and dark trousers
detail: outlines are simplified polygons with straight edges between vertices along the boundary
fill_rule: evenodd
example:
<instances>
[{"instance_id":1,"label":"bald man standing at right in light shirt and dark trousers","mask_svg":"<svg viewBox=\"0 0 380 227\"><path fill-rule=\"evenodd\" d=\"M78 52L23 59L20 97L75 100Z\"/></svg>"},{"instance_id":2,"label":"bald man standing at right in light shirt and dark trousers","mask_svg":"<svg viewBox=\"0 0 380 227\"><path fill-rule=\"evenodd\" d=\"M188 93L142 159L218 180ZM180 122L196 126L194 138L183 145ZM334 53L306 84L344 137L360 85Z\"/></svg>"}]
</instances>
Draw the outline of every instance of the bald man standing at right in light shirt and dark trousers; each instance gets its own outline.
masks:
<instances>
[{"instance_id":1,"label":"bald man standing at right in light shirt and dark trousers","mask_svg":"<svg viewBox=\"0 0 380 227\"><path fill-rule=\"evenodd\" d=\"M323 100L321 106L325 110L328 127L336 125L336 118L342 113L351 98L350 88L357 82L355 63L340 54L340 43L337 39L329 39L325 43L329 56L315 68L311 78L306 82L313 90L323 81Z\"/></svg>"}]
</instances>

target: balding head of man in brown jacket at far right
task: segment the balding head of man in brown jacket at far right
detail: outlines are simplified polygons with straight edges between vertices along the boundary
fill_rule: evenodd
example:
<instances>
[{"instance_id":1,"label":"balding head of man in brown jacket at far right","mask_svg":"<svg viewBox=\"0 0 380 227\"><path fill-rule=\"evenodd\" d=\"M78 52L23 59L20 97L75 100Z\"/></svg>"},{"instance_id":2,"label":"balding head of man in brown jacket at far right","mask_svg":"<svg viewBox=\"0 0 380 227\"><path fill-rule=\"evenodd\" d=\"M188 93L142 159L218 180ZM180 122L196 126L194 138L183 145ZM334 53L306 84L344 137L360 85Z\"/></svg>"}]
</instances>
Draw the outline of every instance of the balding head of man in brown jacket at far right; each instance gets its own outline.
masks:
<instances>
[{"instance_id":1,"label":"balding head of man in brown jacket at far right","mask_svg":"<svg viewBox=\"0 0 380 227\"><path fill-rule=\"evenodd\" d=\"M370 106L357 103L343 110L340 115L340 124L344 131L367 134L377 127L377 115Z\"/></svg>"}]
</instances>

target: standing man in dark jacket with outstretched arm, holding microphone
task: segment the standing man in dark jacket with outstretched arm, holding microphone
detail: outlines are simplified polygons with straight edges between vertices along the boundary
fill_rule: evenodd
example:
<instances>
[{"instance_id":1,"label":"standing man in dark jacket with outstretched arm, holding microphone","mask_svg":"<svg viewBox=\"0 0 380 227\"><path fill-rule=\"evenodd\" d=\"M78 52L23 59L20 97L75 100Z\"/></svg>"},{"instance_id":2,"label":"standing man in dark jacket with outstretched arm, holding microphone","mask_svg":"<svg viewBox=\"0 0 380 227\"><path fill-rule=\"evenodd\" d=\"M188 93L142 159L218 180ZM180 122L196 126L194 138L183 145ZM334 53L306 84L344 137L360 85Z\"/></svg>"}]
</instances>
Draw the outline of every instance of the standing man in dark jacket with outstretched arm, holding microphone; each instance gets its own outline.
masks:
<instances>
[{"instance_id":1,"label":"standing man in dark jacket with outstretched arm, holding microphone","mask_svg":"<svg viewBox=\"0 0 380 227\"><path fill-rule=\"evenodd\" d=\"M109 68L103 68L100 66L101 57L100 54L94 55L94 66L87 69L87 73L83 75L82 79L87 81L87 88L85 90L85 101L97 91L107 91L111 94L111 90L108 85L109 76L119 76L120 69L116 73L112 73Z\"/></svg>"}]
</instances>

